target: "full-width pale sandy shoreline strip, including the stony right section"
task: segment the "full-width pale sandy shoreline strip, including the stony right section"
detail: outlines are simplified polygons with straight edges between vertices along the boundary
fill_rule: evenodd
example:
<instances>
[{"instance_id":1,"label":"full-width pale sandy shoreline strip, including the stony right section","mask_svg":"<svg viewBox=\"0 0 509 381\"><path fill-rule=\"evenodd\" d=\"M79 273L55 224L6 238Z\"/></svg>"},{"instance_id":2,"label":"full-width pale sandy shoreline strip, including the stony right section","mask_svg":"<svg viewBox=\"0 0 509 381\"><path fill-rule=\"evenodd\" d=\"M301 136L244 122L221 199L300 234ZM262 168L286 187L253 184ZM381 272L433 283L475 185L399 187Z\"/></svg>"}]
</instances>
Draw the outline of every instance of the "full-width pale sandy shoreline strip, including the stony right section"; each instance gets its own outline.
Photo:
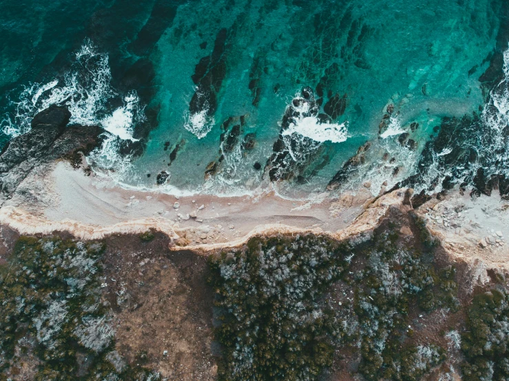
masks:
<instances>
[{"instance_id":1,"label":"full-width pale sandy shoreline strip, including the stony right section","mask_svg":"<svg viewBox=\"0 0 509 381\"><path fill-rule=\"evenodd\" d=\"M20 234L60 231L83 240L154 229L169 237L170 250L205 255L238 248L257 235L313 233L337 240L362 239L372 234L388 208L396 207L424 219L454 259L509 268L509 246L504 241L509 237L509 202L496 195L471 199L453 190L442 201L433 197L413 209L404 205L404 197L405 189L373 197L364 187L357 195L324 197L320 203L290 201L274 193L175 197L125 190L110 179L86 176L57 161L23 180L14 197L1 206L0 224Z\"/></svg>"}]
</instances>

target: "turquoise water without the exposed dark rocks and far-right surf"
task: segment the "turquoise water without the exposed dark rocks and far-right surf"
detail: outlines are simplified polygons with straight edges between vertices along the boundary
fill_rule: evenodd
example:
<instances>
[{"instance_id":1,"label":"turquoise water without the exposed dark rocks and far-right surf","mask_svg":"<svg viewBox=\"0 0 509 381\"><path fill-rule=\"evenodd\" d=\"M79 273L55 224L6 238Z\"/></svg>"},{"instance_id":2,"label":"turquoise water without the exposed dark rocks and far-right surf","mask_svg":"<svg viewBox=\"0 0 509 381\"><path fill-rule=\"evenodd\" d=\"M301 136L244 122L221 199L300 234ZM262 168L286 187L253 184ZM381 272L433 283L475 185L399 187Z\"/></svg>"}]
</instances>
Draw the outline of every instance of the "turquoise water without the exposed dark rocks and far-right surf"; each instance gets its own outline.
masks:
<instances>
[{"instance_id":1,"label":"turquoise water without the exposed dark rocks and far-right surf","mask_svg":"<svg viewBox=\"0 0 509 381\"><path fill-rule=\"evenodd\" d=\"M93 107L73 103L75 109L88 105L87 115L76 122L112 126L107 120L115 120L110 132L127 131L121 137L141 139L145 146L143 155L122 158L115 155L121 144L112 138L90 159L96 171L129 186L245 193L269 186L263 168L285 110L309 86L315 98L322 98L320 113L335 94L344 99L341 115L330 122L344 124L346 134L341 142L313 144L298 173L272 186L294 197L321 192L359 146L371 141L369 165L346 188L370 181L376 192L384 181L391 186L415 173L420 152L444 116L484 107L479 76L490 65L502 6L503 0L5 1L0 15L0 90L8 95L0 105L6 115L3 128L15 135L23 119L14 117L20 99L30 104L38 89L60 80L37 102L56 99L59 88L67 89L66 95L92 94ZM33 17L23 13L27 9ZM83 45L93 51L92 58L76 58ZM105 65L98 65L99 56L107 56ZM217 63L209 66L217 69L215 102L193 112L189 104L196 86L198 93L209 89L207 78L198 85L192 78L207 56ZM125 79L131 78L129 69L138 70L138 82ZM94 78L100 73L98 86ZM65 83L70 74L81 85ZM24 98L23 86L30 87ZM390 131L379 138L391 104ZM23 113L30 117L37 107L23 106ZM240 124L240 116L244 123L238 138L225 149L220 126L229 118ZM324 127L315 122L310 129ZM419 128L412 131L415 146L408 149L397 137L411 131L411 123ZM255 144L242 149L248 133L255 134ZM295 134L291 139L304 138ZM394 160L380 168L375 164L384 153ZM216 170L205 176L211 162ZM112 167L116 171L108 172ZM156 184L160 171L169 173L163 185Z\"/></svg>"}]
</instances>

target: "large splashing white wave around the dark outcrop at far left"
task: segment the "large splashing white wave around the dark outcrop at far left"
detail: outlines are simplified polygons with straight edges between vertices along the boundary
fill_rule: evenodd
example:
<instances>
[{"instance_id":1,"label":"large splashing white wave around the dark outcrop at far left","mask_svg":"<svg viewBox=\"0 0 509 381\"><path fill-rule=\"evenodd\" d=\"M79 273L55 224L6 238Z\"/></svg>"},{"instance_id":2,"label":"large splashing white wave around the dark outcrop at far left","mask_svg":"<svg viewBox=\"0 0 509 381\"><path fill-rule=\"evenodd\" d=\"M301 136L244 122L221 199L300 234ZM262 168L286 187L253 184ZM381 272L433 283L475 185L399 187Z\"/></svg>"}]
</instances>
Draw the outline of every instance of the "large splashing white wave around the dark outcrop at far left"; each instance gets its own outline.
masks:
<instances>
[{"instance_id":1,"label":"large splashing white wave around the dark outcrop at far left","mask_svg":"<svg viewBox=\"0 0 509 381\"><path fill-rule=\"evenodd\" d=\"M63 78L32 83L23 87L18 96L14 96L14 91L8 94L11 111L1 120L0 129L14 138L30 131L30 122L39 111L54 104L65 105L71 113L70 124L99 125L105 129L102 146L87 160L94 169L114 169L119 177L131 165L131 157L118 153L121 143L137 140L133 137L134 126L145 116L136 91L125 95L123 106L111 111L108 102L119 96L111 82L107 54L98 53L92 41L86 40Z\"/></svg>"}]
</instances>

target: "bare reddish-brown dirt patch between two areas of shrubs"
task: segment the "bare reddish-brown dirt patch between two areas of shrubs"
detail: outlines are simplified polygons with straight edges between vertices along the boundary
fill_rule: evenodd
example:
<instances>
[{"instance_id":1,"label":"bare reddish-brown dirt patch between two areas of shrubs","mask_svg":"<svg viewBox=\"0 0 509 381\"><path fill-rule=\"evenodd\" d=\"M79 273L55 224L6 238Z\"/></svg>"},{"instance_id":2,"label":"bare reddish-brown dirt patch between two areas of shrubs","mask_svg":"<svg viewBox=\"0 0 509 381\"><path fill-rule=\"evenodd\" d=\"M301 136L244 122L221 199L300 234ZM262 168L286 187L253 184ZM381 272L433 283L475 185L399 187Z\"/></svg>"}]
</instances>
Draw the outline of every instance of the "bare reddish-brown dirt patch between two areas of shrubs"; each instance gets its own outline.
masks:
<instances>
[{"instance_id":1,"label":"bare reddish-brown dirt patch between two areas of shrubs","mask_svg":"<svg viewBox=\"0 0 509 381\"><path fill-rule=\"evenodd\" d=\"M214 380L206 259L169 252L168 241L160 234L150 242L107 239L104 289L116 318L116 349L161 378Z\"/></svg>"}]
</instances>

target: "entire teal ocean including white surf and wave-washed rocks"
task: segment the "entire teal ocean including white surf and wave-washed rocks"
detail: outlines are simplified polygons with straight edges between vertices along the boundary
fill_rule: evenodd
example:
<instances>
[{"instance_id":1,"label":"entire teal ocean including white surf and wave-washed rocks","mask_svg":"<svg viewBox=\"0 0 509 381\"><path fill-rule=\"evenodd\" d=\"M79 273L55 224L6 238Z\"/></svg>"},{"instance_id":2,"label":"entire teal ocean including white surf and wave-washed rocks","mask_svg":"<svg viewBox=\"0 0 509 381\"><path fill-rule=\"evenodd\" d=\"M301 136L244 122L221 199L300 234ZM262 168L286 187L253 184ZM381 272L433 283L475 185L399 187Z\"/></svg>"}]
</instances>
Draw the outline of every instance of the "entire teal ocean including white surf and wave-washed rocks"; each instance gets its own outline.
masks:
<instances>
[{"instance_id":1,"label":"entire teal ocean including white surf and wave-washed rocks","mask_svg":"<svg viewBox=\"0 0 509 381\"><path fill-rule=\"evenodd\" d=\"M125 187L483 192L509 181L508 8L6 0L0 142L57 103L105 129L87 161Z\"/></svg>"}]
</instances>

